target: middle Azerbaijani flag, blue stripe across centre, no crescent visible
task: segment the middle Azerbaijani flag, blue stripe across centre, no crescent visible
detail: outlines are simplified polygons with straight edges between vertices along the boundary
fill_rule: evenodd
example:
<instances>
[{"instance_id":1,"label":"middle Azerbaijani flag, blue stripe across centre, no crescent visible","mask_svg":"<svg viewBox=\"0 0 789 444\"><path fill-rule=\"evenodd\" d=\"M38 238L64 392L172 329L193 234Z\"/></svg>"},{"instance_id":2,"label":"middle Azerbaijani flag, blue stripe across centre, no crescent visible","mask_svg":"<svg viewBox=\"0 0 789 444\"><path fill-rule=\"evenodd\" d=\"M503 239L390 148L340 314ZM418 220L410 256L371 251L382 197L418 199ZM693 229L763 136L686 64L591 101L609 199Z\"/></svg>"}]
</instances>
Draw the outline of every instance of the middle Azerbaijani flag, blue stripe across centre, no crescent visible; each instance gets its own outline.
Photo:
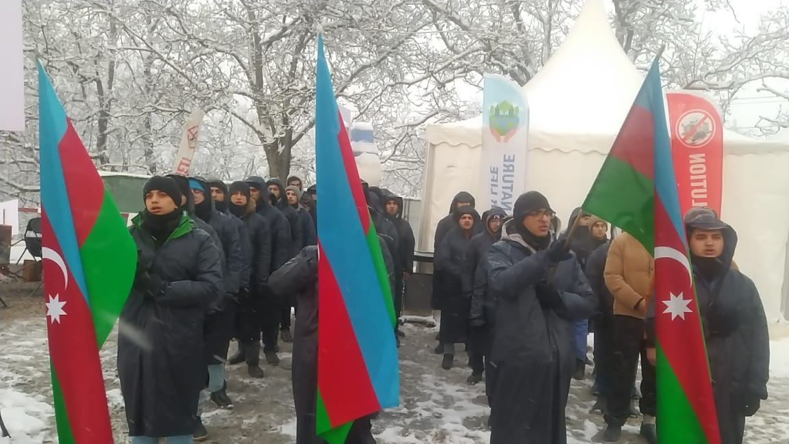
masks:
<instances>
[{"instance_id":1,"label":"middle Azerbaijani flag, blue stripe across centre, no crescent visible","mask_svg":"<svg viewBox=\"0 0 789 444\"><path fill-rule=\"evenodd\" d=\"M318 184L316 432L341 444L353 420L398 405L394 305L318 37L315 155Z\"/></svg>"}]
</instances>

